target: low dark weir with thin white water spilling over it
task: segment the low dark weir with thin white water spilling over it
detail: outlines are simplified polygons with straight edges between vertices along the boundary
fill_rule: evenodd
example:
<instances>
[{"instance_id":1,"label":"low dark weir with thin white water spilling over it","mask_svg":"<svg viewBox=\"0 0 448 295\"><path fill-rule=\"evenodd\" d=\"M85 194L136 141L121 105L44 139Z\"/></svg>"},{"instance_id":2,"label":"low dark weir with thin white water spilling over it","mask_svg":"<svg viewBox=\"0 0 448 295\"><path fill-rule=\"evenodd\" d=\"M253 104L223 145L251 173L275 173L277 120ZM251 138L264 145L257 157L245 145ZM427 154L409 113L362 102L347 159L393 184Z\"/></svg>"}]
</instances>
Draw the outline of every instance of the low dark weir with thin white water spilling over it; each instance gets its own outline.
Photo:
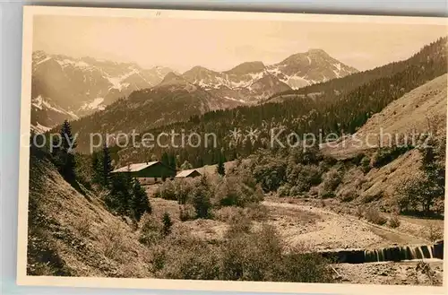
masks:
<instances>
[{"instance_id":1,"label":"low dark weir with thin white water spilling over it","mask_svg":"<svg viewBox=\"0 0 448 295\"><path fill-rule=\"evenodd\" d=\"M430 246L384 247L375 250L328 250L320 253L322 256L332 260L332 262L340 264L364 264L383 261L398 262L431 258L444 259L444 241L438 241Z\"/></svg>"}]
</instances>

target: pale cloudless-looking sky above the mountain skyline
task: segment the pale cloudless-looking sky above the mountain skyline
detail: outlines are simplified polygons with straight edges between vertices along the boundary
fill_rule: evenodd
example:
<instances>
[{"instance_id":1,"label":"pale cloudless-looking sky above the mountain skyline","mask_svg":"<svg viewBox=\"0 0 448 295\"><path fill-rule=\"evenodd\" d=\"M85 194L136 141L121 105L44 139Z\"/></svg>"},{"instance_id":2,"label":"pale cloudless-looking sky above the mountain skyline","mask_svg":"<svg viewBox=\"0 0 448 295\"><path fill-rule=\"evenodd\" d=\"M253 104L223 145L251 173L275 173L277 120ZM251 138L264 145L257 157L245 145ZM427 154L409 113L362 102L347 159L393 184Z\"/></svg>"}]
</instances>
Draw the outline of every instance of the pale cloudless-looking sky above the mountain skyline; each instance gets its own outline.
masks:
<instances>
[{"instance_id":1,"label":"pale cloudless-looking sky above the mountain skyline","mask_svg":"<svg viewBox=\"0 0 448 295\"><path fill-rule=\"evenodd\" d=\"M224 71L247 61L265 65L322 48L346 65L366 70L408 58L446 36L432 24L267 22L101 16L34 16L33 50L51 54Z\"/></svg>"}]
</instances>

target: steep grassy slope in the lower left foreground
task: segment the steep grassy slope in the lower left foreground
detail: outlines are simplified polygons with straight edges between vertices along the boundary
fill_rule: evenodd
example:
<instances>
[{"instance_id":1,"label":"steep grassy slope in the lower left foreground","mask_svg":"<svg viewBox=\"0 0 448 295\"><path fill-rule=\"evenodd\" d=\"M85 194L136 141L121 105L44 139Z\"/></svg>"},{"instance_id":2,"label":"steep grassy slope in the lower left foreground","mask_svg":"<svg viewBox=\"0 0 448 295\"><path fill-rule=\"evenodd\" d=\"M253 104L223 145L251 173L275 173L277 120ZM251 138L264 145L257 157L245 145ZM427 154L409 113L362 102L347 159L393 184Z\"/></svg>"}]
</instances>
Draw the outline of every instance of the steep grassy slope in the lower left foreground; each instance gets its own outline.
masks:
<instances>
[{"instance_id":1,"label":"steep grassy slope in the lower left foreground","mask_svg":"<svg viewBox=\"0 0 448 295\"><path fill-rule=\"evenodd\" d=\"M131 226L85 192L65 182L47 154L31 152L27 273L149 276L148 250Z\"/></svg>"}]
</instances>

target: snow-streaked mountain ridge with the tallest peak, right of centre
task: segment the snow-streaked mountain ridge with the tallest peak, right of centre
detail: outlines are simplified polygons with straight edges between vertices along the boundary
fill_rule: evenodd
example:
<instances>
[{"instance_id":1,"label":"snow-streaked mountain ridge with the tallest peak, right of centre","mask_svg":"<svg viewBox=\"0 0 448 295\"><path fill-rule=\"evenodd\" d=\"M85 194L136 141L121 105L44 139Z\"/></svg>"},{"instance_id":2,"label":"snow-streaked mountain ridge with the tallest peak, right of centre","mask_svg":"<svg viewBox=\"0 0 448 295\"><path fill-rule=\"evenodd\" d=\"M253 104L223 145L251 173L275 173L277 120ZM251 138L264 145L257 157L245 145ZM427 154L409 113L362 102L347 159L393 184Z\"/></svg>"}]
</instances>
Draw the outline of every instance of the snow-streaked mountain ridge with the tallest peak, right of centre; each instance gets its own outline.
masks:
<instances>
[{"instance_id":1,"label":"snow-streaked mountain ridge with the tallest peak, right of centre","mask_svg":"<svg viewBox=\"0 0 448 295\"><path fill-rule=\"evenodd\" d=\"M261 61L245 62L224 72L194 66L182 76L222 98L252 103L266 99L274 93L354 73L358 73L358 70L342 64L323 49L309 49L274 65L264 65ZM260 91L261 88L263 91Z\"/></svg>"}]
</instances>

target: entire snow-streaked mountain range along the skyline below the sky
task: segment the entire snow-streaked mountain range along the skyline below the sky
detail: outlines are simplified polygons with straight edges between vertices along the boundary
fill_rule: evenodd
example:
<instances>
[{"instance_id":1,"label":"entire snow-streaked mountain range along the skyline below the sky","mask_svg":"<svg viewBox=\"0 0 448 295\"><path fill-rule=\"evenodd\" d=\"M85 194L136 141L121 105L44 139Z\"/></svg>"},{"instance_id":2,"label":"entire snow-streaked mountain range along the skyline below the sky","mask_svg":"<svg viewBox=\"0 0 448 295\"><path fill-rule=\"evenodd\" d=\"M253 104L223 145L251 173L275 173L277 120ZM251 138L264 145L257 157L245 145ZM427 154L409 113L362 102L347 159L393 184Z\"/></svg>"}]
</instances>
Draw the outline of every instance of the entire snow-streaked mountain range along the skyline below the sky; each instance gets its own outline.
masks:
<instances>
[{"instance_id":1,"label":"entire snow-streaked mountain range along the skyline below the sky","mask_svg":"<svg viewBox=\"0 0 448 295\"><path fill-rule=\"evenodd\" d=\"M130 97L134 91L137 92L134 97L140 97L139 100L152 101L154 95L160 98L174 94L170 91L179 90L178 87L162 87L150 91L159 84L190 85L189 93L193 96L196 94L194 91L201 92L203 95L199 97L206 99L198 100L197 106L194 100L189 100L188 103L193 105L187 108L195 108L202 113L255 104L278 92L356 72L358 70L340 63L322 49L297 53L275 65L264 65L261 61L246 62L224 72L198 65L184 74L163 66L143 69L133 63L35 51L32 56L31 129L45 132L64 119L74 120L104 110L119 98ZM162 89L165 94L161 93ZM186 102L178 104L179 111L185 108ZM172 109L163 111L171 112ZM196 115L197 112L187 114ZM157 120L159 117L154 121Z\"/></svg>"}]
</instances>

